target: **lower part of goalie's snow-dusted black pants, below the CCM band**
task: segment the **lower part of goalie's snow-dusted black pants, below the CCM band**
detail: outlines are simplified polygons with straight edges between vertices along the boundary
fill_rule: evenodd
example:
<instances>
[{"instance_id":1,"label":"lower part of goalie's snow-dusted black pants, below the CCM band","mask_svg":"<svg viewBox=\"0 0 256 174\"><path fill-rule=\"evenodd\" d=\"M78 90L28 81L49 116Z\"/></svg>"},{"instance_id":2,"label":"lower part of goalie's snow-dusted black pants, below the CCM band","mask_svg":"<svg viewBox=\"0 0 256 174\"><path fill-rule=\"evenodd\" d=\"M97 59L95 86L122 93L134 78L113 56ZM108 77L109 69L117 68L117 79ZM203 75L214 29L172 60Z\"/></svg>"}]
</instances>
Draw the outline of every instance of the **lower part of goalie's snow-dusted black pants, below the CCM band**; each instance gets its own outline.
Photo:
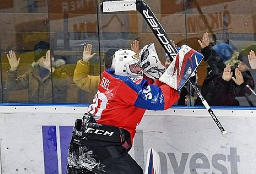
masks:
<instances>
[{"instance_id":1,"label":"lower part of goalie's snow-dusted black pants, below the CCM band","mask_svg":"<svg viewBox=\"0 0 256 174\"><path fill-rule=\"evenodd\" d=\"M67 174L143 174L123 146L81 146L70 142Z\"/></svg>"}]
</instances>

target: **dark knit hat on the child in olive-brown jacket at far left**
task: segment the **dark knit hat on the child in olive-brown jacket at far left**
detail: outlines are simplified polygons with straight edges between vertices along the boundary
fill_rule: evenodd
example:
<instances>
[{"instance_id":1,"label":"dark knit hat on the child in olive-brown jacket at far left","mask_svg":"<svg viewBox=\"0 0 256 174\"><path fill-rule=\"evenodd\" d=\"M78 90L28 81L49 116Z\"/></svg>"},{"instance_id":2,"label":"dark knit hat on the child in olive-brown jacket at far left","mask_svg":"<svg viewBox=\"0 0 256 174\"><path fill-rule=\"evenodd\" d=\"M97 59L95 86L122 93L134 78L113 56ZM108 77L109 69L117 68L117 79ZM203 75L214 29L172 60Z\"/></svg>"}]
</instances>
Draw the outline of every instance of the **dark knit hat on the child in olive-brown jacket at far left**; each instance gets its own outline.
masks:
<instances>
[{"instance_id":1,"label":"dark knit hat on the child in olive-brown jacket at far left","mask_svg":"<svg viewBox=\"0 0 256 174\"><path fill-rule=\"evenodd\" d=\"M34 47L34 61L37 62L43 56L46 56L46 52L50 49L48 42L40 41Z\"/></svg>"}]
</instances>

